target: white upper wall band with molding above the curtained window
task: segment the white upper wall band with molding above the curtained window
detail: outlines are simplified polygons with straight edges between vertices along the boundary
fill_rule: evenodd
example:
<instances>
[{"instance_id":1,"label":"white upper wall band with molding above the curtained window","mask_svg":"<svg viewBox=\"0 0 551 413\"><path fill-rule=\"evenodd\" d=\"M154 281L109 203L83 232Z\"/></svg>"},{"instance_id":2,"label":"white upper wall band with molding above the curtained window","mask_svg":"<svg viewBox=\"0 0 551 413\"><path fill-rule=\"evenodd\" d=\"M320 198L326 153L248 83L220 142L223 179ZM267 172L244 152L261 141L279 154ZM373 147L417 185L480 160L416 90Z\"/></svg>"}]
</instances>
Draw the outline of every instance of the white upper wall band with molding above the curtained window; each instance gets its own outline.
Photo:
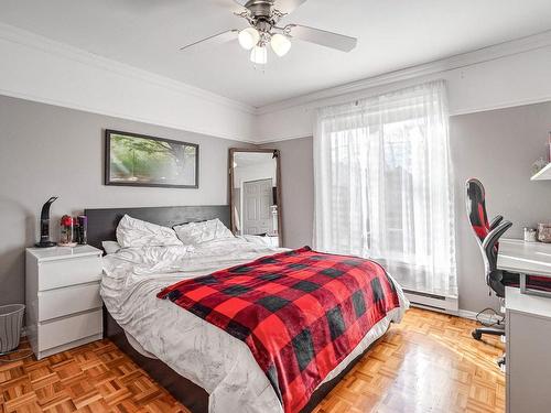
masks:
<instances>
[{"instance_id":1,"label":"white upper wall band with molding above the curtained window","mask_svg":"<svg viewBox=\"0 0 551 413\"><path fill-rule=\"evenodd\" d=\"M551 33L260 108L257 141L312 135L315 109L446 79L452 116L551 100Z\"/></svg>"}]
</instances>

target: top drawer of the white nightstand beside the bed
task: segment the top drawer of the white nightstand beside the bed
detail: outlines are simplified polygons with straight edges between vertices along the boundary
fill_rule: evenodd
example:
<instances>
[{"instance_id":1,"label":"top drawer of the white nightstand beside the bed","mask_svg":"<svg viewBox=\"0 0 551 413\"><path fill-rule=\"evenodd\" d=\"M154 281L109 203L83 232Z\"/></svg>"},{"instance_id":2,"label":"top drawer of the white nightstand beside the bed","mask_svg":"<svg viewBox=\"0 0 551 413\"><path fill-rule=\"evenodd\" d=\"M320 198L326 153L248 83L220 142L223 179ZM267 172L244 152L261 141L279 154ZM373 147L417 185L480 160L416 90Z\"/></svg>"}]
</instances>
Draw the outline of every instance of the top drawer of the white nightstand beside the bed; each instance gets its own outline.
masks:
<instances>
[{"instance_id":1,"label":"top drawer of the white nightstand beside the bed","mask_svg":"<svg viewBox=\"0 0 551 413\"><path fill-rule=\"evenodd\" d=\"M101 259L96 256L39 263L39 291L101 279Z\"/></svg>"}]
</instances>

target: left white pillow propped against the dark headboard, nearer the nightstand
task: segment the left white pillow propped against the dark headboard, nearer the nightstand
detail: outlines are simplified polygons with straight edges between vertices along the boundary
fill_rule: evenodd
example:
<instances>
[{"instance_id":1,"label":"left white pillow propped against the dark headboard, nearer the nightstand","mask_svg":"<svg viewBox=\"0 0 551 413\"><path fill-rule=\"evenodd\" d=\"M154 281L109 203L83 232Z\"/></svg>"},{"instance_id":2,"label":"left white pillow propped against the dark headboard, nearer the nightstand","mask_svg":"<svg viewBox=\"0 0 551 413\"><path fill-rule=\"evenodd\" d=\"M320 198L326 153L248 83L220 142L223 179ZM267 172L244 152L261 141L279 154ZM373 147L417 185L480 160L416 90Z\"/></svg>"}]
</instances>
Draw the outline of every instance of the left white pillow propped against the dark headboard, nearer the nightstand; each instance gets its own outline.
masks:
<instances>
[{"instance_id":1,"label":"left white pillow propped against the dark headboard, nearer the nightstand","mask_svg":"<svg viewBox=\"0 0 551 413\"><path fill-rule=\"evenodd\" d=\"M181 246L172 228L142 221L125 215L117 226L121 248Z\"/></svg>"}]
</instances>

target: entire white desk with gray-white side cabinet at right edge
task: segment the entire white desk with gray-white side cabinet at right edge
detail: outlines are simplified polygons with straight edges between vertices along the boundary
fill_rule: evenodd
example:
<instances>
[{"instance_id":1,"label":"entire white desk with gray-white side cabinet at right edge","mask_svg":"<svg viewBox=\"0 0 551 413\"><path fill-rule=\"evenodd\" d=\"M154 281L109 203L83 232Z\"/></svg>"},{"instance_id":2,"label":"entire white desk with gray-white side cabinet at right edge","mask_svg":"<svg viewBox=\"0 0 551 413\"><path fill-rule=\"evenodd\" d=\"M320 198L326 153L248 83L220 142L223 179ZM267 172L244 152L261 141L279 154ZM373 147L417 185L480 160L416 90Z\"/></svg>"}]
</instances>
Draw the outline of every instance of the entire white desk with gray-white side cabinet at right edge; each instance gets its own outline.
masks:
<instances>
[{"instance_id":1,"label":"entire white desk with gray-white side cabinet at right edge","mask_svg":"<svg viewBox=\"0 0 551 413\"><path fill-rule=\"evenodd\" d=\"M551 278L551 244L503 239L497 268L520 273L507 287L507 413L548 413L551 406L551 297L526 287L526 275ZM541 296L545 295L545 297Z\"/></svg>"}]
</instances>

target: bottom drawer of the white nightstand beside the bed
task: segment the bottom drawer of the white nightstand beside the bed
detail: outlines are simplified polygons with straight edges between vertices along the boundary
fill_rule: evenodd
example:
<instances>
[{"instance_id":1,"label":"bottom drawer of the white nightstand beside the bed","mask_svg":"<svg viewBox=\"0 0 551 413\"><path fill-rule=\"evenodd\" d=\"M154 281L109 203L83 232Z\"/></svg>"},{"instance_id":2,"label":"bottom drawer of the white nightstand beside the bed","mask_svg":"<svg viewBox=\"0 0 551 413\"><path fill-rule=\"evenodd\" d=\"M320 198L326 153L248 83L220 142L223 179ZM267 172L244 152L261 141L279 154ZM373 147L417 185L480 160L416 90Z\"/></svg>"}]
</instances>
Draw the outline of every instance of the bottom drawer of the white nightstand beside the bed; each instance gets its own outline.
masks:
<instances>
[{"instance_id":1,"label":"bottom drawer of the white nightstand beside the bed","mask_svg":"<svg viewBox=\"0 0 551 413\"><path fill-rule=\"evenodd\" d=\"M99 334L102 329L101 308L56 322L39 324L39 347L41 351L47 350Z\"/></svg>"}]
</instances>

